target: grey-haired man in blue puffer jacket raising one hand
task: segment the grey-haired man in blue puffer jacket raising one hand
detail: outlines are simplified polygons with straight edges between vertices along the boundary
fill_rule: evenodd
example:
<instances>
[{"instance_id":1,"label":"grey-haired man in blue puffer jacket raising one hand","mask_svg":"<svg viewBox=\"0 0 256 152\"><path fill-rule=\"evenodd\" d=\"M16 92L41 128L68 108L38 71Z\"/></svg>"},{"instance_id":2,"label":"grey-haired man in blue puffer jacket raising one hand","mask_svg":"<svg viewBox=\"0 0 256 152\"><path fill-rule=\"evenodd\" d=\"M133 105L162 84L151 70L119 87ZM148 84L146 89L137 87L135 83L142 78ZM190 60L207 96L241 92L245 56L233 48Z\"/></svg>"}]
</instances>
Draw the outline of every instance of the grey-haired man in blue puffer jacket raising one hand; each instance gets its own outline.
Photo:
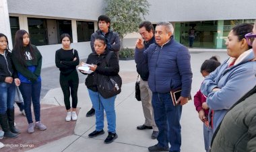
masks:
<instances>
[{"instance_id":1,"label":"grey-haired man in blue puffer jacket raising one hand","mask_svg":"<svg viewBox=\"0 0 256 152\"><path fill-rule=\"evenodd\" d=\"M174 28L169 22L156 25L156 44L146 50L139 38L135 48L135 62L148 63L148 84L153 93L152 106L156 126L159 129L158 144L149 151L181 151L181 112L190 96L192 72L188 49L172 36ZM172 104L170 91L181 89L178 106ZM170 149L168 147L170 143Z\"/></svg>"}]
</instances>

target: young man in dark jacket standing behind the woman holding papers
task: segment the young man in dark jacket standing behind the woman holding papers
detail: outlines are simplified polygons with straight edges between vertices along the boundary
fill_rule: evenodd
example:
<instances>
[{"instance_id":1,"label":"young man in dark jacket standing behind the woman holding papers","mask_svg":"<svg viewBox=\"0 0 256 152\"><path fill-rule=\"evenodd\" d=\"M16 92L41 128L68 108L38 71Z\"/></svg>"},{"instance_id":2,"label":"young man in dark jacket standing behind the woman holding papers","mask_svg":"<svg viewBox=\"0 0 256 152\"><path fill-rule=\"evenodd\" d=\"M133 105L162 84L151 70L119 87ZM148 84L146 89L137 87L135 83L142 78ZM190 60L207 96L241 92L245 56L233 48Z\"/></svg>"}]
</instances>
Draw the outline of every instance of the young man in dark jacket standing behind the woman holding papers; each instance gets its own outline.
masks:
<instances>
[{"instance_id":1,"label":"young man in dark jacket standing behind the woman holding papers","mask_svg":"<svg viewBox=\"0 0 256 152\"><path fill-rule=\"evenodd\" d=\"M121 41L119 38L119 34L117 32L113 32L113 30L110 30L110 18L106 15L100 15L98 17L98 28L100 30L97 30L92 34L91 36L91 48L92 52L95 52L94 50L94 40L96 36L102 34L106 38L107 42L107 48L108 50L112 50L117 55L117 60L119 61L119 50L121 48ZM92 107L86 114L87 117L93 116L95 114L95 110Z\"/></svg>"}]
</instances>

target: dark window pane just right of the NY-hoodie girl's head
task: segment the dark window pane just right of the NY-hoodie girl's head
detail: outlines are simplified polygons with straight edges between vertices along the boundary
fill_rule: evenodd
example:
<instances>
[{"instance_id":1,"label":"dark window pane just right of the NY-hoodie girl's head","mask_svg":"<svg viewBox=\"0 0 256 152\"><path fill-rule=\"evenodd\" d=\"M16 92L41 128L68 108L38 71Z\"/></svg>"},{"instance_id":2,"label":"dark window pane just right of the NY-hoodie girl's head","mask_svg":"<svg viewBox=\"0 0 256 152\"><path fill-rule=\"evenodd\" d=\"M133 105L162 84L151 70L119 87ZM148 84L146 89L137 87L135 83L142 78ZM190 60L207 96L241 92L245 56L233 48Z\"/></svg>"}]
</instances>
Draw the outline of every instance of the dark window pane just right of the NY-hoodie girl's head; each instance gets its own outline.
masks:
<instances>
[{"instance_id":1,"label":"dark window pane just right of the NY-hoodie girl's head","mask_svg":"<svg viewBox=\"0 0 256 152\"><path fill-rule=\"evenodd\" d=\"M28 31L32 44L36 46L48 44L45 19L28 18Z\"/></svg>"}]
</instances>

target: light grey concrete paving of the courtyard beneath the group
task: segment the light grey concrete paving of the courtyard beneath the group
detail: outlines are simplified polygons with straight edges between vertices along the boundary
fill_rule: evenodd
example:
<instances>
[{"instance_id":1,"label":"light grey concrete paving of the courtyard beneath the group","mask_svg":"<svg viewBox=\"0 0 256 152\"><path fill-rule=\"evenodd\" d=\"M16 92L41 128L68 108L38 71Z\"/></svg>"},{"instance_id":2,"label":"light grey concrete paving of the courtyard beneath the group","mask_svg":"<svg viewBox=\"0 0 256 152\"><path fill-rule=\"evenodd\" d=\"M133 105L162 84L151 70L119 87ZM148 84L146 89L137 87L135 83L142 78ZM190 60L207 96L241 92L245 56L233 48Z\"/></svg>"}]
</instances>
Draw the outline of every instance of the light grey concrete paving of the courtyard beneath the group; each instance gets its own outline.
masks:
<instances>
[{"instance_id":1,"label":"light grey concrete paving of the courtyard beneath the group","mask_svg":"<svg viewBox=\"0 0 256 152\"><path fill-rule=\"evenodd\" d=\"M201 63L211 56L220 56L221 61L227 59L226 52L191 52L191 66L193 71L193 84L191 95L199 89L203 77L200 73ZM111 152L143 152L148 147L155 145L156 140L151 139L152 130L137 130L136 126L143 124L143 111L141 102L134 96L135 80L137 73L134 61L120 61L120 75L123 78L122 92L117 96L115 106L117 112L117 134L119 138L111 144L104 144L107 136L100 135L89 139L88 134L95 129L95 116L86 117L92 104L88 91L84 85L85 75L79 74L80 84L78 89L78 107L81 108L76 122L74 134L52 143L48 143L30 151L111 151ZM45 95L45 96L44 96ZM56 67L42 69L42 104L64 105L63 93L59 87L59 71ZM65 109L63 109L65 112ZM51 119L51 118L49 118ZM60 118L65 121L65 118ZM54 123L54 122L53 122ZM107 130L106 119L104 130ZM183 152L203 152L203 124L198 118L193 102L183 106L181 116ZM59 128L61 129L61 128Z\"/></svg>"}]
</instances>

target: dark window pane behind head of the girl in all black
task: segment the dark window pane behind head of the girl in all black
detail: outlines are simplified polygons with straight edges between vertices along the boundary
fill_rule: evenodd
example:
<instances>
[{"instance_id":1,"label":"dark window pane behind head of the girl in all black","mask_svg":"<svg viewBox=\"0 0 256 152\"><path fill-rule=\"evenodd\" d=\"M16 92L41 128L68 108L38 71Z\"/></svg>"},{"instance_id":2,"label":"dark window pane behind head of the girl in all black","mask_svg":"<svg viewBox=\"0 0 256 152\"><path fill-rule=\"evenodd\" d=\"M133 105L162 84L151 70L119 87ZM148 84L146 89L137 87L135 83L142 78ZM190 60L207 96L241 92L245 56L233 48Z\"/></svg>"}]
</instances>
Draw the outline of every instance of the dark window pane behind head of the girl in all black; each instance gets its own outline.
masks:
<instances>
[{"instance_id":1,"label":"dark window pane behind head of the girl in all black","mask_svg":"<svg viewBox=\"0 0 256 152\"><path fill-rule=\"evenodd\" d=\"M71 20L57 20L58 42L61 43L61 34L67 33L72 37Z\"/></svg>"}]
</instances>

